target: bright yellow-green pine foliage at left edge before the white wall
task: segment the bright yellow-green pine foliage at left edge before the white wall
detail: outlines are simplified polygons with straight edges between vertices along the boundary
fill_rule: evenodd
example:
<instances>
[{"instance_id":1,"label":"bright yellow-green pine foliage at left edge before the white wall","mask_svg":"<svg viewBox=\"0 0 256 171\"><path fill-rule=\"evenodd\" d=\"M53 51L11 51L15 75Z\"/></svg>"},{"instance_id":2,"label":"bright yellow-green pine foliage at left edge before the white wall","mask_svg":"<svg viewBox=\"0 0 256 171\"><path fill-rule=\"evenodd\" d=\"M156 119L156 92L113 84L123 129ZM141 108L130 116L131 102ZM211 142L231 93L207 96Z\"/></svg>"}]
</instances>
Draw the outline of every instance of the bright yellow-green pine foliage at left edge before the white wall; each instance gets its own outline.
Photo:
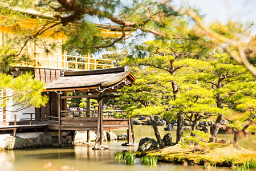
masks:
<instances>
[{"instance_id":1,"label":"bright yellow-green pine foliage at left edge before the white wall","mask_svg":"<svg viewBox=\"0 0 256 171\"><path fill-rule=\"evenodd\" d=\"M14 78L11 75L0 74L0 108L6 111L18 112L29 107L45 106L48 97L42 96L44 84L33 79L32 74L25 73ZM14 107L9 109L10 107Z\"/></svg>"}]
</instances>

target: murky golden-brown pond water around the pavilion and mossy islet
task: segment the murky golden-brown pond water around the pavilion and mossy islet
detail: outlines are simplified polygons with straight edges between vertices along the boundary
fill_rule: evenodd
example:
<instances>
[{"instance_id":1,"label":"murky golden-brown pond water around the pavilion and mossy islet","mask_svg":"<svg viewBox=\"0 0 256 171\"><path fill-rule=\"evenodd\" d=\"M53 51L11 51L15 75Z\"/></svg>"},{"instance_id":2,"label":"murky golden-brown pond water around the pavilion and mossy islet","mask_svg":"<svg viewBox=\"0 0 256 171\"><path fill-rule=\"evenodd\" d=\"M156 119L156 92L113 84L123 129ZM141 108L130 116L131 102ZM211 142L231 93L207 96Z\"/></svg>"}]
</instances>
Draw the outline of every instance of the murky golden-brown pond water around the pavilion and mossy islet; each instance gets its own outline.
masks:
<instances>
[{"instance_id":1,"label":"murky golden-brown pond water around the pavilion and mossy islet","mask_svg":"<svg viewBox=\"0 0 256 171\"><path fill-rule=\"evenodd\" d=\"M144 137L155 138L152 126L150 125L134 125L136 144ZM175 141L176 131L164 131L164 126L159 127L161 136L170 132ZM126 133L126 131L114 131L118 133ZM220 139L232 140L233 135L222 133ZM239 144L243 147L256 150L255 136L250 136L248 140L241 139ZM51 161L55 169L59 169L64 165L74 167L74 169L82 170L204 170L202 166L183 166L177 164L157 164L157 166L141 165L140 159L136 158L135 165L125 165L124 161L116 161L115 153L121 152L123 149L135 152L137 146L127 147L121 146L124 141L108 141L104 145L108 145L106 150L92 150L94 143L67 145L64 148L32 148L21 150L6 150L0 152L0 170L47 170L44 168ZM216 168L216 170L232 170L230 168ZM233 169L234 170L234 169Z\"/></svg>"}]
</instances>

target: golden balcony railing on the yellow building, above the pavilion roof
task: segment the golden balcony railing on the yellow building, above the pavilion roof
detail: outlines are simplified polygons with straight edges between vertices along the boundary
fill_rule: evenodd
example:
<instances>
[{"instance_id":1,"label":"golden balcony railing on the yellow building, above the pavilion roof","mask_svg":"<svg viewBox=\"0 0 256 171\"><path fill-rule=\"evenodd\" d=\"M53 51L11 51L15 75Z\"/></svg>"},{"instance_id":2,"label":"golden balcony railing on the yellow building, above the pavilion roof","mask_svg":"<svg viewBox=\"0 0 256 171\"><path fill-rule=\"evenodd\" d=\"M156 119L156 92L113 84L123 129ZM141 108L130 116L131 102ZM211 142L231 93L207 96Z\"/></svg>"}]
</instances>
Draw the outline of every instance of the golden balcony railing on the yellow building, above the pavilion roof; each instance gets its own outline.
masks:
<instances>
[{"instance_id":1,"label":"golden balcony railing on the yellow building, above the pavilion roof","mask_svg":"<svg viewBox=\"0 0 256 171\"><path fill-rule=\"evenodd\" d=\"M89 56L72 56L61 54L47 54L41 52L27 52L34 56L34 66L47 68L61 68L73 70L96 70L113 68L113 59L91 58Z\"/></svg>"}]
</instances>

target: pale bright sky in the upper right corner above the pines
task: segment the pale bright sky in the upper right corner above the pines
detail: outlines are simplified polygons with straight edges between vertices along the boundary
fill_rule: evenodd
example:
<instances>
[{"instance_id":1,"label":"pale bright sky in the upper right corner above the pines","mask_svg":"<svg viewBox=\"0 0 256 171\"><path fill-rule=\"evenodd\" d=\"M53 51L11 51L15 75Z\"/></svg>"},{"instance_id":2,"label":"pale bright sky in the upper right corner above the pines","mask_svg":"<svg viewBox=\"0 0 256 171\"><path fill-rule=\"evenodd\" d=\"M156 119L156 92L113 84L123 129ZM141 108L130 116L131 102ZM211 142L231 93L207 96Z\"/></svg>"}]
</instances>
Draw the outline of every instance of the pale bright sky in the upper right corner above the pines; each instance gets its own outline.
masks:
<instances>
[{"instance_id":1,"label":"pale bright sky in the upper right corner above the pines","mask_svg":"<svg viewBox=\"0 0 256 171\"><path fill-rule=\"evenodd\" d=\"M201 14L205 14L206 23L229 19L245 23L256 22L256 0L173 0L174 5L198 7ZM256 23L254 23L256 24ZM252 34L256 34L256 27L251 28Z\"/></svg>"}]
</instances>

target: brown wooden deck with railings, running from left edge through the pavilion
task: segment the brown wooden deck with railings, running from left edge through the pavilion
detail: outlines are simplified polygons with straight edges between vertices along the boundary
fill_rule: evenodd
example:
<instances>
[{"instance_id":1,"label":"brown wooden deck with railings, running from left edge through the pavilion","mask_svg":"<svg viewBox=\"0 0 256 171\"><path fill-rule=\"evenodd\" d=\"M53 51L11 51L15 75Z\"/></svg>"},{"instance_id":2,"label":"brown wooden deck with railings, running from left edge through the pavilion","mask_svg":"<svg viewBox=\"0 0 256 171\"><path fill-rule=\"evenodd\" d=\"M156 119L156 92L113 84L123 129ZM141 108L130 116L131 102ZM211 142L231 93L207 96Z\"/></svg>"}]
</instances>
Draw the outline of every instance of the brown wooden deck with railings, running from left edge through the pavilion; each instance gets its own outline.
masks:
<instances>
[{"instance_id":1,"label":"brown wooden deck with railings, running from left edge through the pavilion","mask_svg":"<svg viewBox=\"0 0 256 171\"><path fill-rule=\"evenodd\" d=\"M102 131L127 129L128 142L131 141L131 119L117 119L113 115L120 110L103 111ZM54 131L98 131L99 118L97 110L61 111L61 117L48 116L47 113L11 113L6 114L10 119L0 119L0 132L13 130L15 136L17 129L39 129L44 132ZM27 117L24 117L27 116ZM40 116L40 118L35 118ZM0 118L3 118L3 115ZM133 130L132 130L133 132ZM61 134L61 133L60 133ZM133 135L134 136L134 135ZM90 139L90 137L88 138ZM134 139L134 137L133 137Z\"/></svg>"}]
</instances>

